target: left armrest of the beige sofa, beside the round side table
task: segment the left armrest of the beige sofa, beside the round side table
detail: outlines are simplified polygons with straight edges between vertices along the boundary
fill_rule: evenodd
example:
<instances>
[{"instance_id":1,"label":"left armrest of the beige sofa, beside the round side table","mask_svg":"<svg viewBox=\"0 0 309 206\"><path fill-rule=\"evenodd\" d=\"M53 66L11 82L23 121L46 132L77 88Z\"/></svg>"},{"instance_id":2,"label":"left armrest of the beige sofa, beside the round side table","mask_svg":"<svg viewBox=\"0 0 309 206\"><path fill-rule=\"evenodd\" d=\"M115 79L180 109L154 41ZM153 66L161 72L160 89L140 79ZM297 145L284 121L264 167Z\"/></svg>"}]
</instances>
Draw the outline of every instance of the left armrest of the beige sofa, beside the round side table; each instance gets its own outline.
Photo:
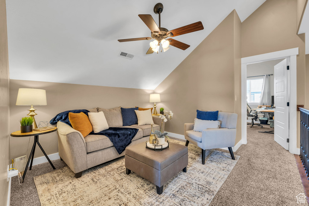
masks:
<instances>
[{"instance_id":1,"label":"left armrest of the beige sofa, beside the round side table","mask_svg":"<svg viewBox=\"0 0 309 206\"><path fill-rule=\"evenodd\" d=\"M87 150L83 135L63 122L58 122L57 128L61 159L74 173L87 170Z\"/></svg>"}]
</instances>

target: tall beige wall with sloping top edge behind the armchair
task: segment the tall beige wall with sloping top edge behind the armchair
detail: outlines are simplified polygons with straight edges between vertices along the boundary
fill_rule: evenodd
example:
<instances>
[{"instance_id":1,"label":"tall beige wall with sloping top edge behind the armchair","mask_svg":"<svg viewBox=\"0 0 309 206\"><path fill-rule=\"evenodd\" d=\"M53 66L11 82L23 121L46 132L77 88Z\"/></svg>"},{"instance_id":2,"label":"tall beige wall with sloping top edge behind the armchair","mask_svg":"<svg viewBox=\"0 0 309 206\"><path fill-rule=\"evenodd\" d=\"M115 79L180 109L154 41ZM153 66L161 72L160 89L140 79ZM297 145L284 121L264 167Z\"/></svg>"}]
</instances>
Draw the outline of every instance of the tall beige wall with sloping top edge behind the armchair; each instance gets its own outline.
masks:
<instances>
[{"instance_id":1,"label":"tall beige wall with sloping top edge behind the armchair","mask_svg":"<svg viewBox=\"0 0 309 206\"><path fill-rule=\"evenodd\" d=\"M238 113L236 142L241 139L240 28L234 10L155 89L162 101L157 106L174 113L166 131L183 135L197 109L219 110Z\"/></svg>"}]
</instances>

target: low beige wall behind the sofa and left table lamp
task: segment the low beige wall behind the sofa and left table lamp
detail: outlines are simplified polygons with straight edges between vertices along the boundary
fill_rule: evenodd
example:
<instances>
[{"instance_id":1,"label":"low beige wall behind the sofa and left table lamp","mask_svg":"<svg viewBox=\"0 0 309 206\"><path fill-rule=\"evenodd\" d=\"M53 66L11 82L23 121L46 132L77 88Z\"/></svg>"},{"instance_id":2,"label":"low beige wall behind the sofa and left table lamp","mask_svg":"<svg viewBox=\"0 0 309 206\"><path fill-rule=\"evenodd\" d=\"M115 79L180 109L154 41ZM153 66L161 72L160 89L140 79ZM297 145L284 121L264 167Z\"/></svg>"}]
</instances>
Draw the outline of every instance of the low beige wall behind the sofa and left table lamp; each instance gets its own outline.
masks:
<instances>
[{"instance_id":1,"label":"low beige wall behind the sofa and left table lamp","mask_svg":"<svg viewBox=\"0 0 309 206\"><path fill-rule=\"evenodd\" d=\"M10 131L20 130L18 120L27 116L30 106L16 106L16 98L19 88L37 88L46 90L47 105L34 106L39 121L49 121L62 111L73 109L92 109L95 107L152 107L149 103L149 94L153 90L130 89L107 86L89 86L78 84L65 84L53 82L36 82L24 80L10 80ZM11 158L25 155L28 150L30 154L33 137L10 137ZM39 137L40 144L45 152L49 154L58 152L57 132L44 134ZM44 154L36 147L34 158L42 157Z\"/></svg>"}]
</instances>

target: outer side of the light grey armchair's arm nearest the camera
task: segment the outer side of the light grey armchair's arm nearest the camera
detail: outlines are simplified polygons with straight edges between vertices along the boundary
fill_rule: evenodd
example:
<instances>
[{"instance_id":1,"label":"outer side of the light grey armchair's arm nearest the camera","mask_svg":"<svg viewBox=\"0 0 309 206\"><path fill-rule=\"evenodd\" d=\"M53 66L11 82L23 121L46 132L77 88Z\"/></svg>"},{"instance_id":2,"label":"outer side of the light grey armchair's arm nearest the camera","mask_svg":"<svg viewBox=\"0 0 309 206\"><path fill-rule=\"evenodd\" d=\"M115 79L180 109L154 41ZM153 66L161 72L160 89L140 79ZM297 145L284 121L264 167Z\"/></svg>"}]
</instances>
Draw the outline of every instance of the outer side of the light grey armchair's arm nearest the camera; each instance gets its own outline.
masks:
<instances>
[{"instance_id":1,"label":"outer side of the light grey armchair's arm nearest the camera","mask_svg":"<svg viewBox=\"0 0 309 206\"><path fill-rule=\"evenodd\" d=\"M235 140L236 129L218 128L202 130L203 149L234 147Z\"/></svg>"}]
</instances>

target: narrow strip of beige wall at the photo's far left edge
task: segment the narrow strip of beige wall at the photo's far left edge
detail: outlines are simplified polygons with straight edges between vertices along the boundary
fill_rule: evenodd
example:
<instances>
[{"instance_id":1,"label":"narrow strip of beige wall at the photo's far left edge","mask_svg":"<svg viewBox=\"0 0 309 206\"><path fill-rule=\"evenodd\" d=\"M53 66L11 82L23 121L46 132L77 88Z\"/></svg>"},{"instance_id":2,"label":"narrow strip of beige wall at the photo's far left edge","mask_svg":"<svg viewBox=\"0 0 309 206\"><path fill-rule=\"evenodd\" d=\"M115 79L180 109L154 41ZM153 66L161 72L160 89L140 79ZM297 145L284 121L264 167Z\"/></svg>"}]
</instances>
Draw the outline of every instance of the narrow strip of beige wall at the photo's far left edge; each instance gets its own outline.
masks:
<instances>
[{"instance_id":1,"label":"narrow strip of beige wall at the photo's far left edge","mask_svg":"<svg viewBox=\"0 0 309 206\"><path fill-rule=\"evenodd\" d=\"M9 143L9 56L7 49L6 5L0 0L0 205L6 205L10 164Z\"/></svg>"}]
</instances>

